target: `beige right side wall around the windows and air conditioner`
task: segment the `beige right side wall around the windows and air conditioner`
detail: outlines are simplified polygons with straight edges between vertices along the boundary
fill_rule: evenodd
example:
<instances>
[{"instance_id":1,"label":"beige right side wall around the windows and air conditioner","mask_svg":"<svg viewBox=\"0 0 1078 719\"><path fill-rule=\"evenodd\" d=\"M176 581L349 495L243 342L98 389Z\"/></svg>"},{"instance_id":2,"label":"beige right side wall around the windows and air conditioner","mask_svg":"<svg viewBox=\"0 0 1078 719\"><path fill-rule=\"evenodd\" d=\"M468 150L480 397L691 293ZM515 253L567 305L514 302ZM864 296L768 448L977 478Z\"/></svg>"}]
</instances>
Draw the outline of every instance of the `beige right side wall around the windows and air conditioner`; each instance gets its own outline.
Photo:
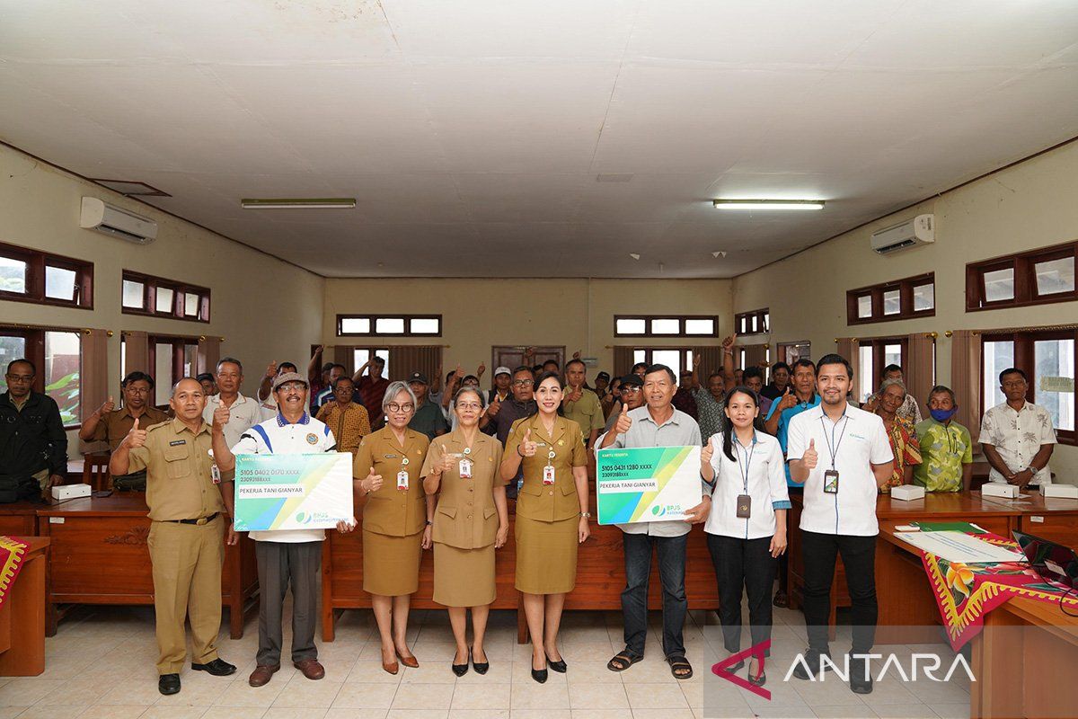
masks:
<instances>
[{"instance_id":1,"label":"beige right side wall around the windows and air conditioner","mask_svg":"<svg viewBox=\"0 0 1078 719\"><path fill-rule=\"evenodd\" d=\"M955 329L992 329L1078 321L1078 302L967 313L966 263L1047 247L1078 237L1078 142L1000 170L734 280L734 312L771 308L772 342L808 338L814 358L835 337L938 332L937 378L951 382ZM869 236L922 212L936 215L936 243L881 257ZM925 272L936 273L936 316L846 324L846 290ZM923 399L923 398L918 398ZM1059 481L1078 481L1078 447L1058 447Z\"/></svg>"}]
</instances>

